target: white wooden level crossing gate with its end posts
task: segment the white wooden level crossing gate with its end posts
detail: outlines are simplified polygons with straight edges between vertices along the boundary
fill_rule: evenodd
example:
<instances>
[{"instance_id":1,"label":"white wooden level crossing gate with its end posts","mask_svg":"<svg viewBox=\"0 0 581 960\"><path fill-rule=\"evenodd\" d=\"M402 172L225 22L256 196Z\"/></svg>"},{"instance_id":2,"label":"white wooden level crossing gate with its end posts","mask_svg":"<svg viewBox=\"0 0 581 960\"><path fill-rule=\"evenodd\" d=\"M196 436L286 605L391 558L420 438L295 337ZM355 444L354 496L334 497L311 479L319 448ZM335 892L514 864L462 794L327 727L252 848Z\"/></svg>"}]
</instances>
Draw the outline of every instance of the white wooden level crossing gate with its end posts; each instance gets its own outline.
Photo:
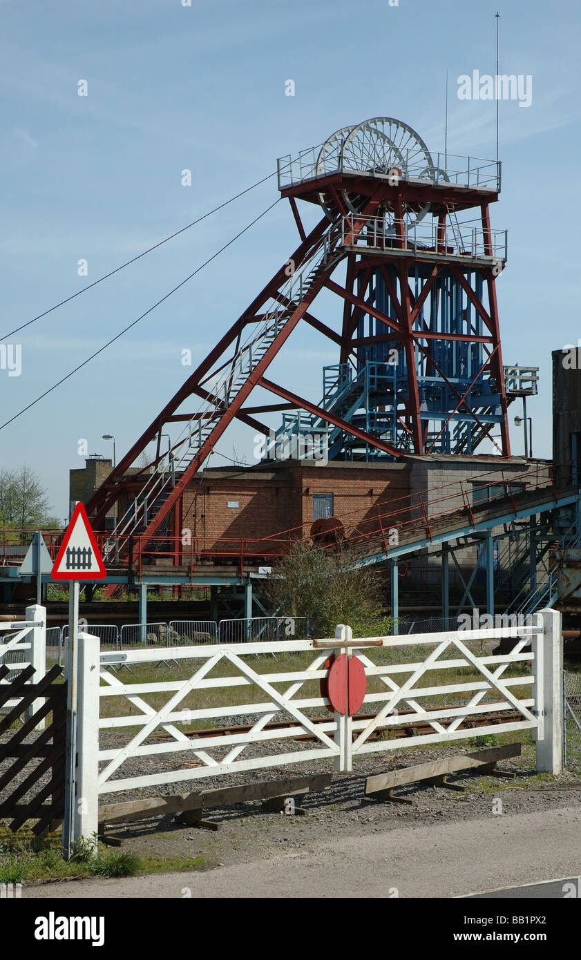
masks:
<instances>
[{"instance_id":1,"label":"white wooden level crossing gate with its end posts","mask_svg":"<svg viewBox=\"0 0 581 960\"><path fill-rule=\"evenodd\" d=\"M561 617L543 611L536 621L535 626L499 630L359 639L352 638L349 627L341 626L334 638L273 643L278 656L308 655L303 656L308 659L306 665L299 661L295 669L291 663L291 668L284 670L250 656L271 652L269 643L101 653L98 638L81 635L77 789L87 803L85 813L79 816L77 835L96 829L100 794L325 758L333 760L335 769L348 771L353 756L401 750L406 738L389 739L389 729L401 726L402 720L406 726L419 721L428 728L421 735L410 734L414 745L460 740L475 733L533 730L538 769L558 773L562 750ZM510 653L486 650L491 640L504 637L515 640ZM532 649L527 652L525 647L531 641ZM375 660L373 648L381 648ZM367 692L361 710L373 712L372 719L336 710L327 716L324 708L329 708L330 702L321 696L318 684L318 695L313 695L312 689L305 693L304 684L327 677L324 664L331 652L356 656L363 663ZM186 679L141 682L133 680L133 675L128 678L124 674L120 679L111 670L115 664L126 663L137 673L139 665L158 663L164 657L193 663ZM464 680L467 670L471 676ZM506 676L508 672L513 676ZM223 693L222 706L212 706L212 691L225 689L231 691L231 697ZM251 690L258 691L257 702L250 698ZM236 696L234 691L242 694ZM112 701L119 698L130 705L121 715L111 708ZM440 702L440 698L446 700ZM403 717L400 711L404 711ZM477 731L470 727L471 718L483 713L494 717L506 711L511 711L510 718ZM275 720L277 726L267 726ZM201 723L215 727L217 722L246 724L248 730L196 736L180 729L182 724L199 729ZM382 738L370 740L378 727L386 729L387 736L384 733ZM134 728L125 743L107 742L109 731ZM169 739L153 742L152 735L158 732ZM313 739L298 742L302 733ZM176 755L174 762L172 755ZM148 771L148 762L156 756L164 757L163 769L158 769L157 763L156 770ZM131 764L133 770L127 773L127 761L136 758L137 770Z\"/></svg>"}]
</instances>

